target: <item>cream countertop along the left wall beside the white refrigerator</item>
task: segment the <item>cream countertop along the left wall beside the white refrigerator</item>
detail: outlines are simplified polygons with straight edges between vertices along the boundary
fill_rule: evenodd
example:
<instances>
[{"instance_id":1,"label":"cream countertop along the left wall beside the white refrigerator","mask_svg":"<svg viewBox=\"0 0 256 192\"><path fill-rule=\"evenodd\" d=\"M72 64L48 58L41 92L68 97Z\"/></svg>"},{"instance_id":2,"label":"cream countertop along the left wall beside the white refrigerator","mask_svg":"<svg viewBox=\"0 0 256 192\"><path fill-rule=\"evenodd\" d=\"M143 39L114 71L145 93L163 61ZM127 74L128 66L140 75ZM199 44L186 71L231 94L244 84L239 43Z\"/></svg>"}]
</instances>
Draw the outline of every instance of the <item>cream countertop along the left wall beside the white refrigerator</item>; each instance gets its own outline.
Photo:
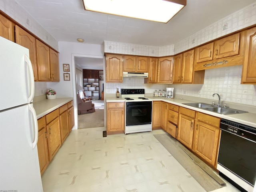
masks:
<instances>
[{"instance_id":1,"label":"cream countertop along the left wall beside the white refrigerator","mask_svg":"<svg viewBox=\"0 0 256 192\"><path fill-rule=\"evenodd\" d=\"M44 99L38 102L33 102L33 107L36 111L37 119L58 109L60 106L72 100L73 98L56 98L56 99Z\"/></svg>"}]
</instances>

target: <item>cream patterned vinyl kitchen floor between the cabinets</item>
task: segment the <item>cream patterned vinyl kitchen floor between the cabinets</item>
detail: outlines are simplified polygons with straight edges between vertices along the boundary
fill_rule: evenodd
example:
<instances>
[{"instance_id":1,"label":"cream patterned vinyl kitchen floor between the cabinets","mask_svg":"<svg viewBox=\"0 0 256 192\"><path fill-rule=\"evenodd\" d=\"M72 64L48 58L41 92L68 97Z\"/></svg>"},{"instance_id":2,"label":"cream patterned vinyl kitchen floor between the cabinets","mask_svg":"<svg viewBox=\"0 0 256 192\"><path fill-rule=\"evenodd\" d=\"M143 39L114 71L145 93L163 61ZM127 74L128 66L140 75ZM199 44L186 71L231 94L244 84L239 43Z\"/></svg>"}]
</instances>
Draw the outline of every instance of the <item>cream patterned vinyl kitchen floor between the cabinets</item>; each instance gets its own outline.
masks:
<instances>
[{"instance_id":1,"label":"cream patterned vinyl kitchen floor between the cabinets","mask_svg":"<svg viewBox=\"0 0 256 192\"><path fill-rule=\"evenodd\" d=\"M162 130L102 137L72 130L42 175L44 192L205 192L156 140ZM234 186L213 192L239 192Z\"/></svg>"}]
</instances>

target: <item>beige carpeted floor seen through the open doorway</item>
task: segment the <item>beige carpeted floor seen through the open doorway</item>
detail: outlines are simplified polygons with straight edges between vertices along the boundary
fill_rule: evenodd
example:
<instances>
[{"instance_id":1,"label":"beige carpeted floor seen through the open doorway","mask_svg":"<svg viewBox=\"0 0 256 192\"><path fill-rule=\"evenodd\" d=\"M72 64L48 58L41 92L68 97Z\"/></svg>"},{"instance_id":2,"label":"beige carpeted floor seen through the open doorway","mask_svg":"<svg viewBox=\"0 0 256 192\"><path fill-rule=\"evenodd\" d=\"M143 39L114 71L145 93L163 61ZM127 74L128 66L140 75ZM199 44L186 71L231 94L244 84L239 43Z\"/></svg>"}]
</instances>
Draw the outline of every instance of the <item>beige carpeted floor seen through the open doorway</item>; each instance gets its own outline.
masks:
<instances>
[{"instance_id":1,"label":"beige carpeted floor seen through the open doorway","mask_svg":"<svg viewBox=\"0 0 256 192\"><path fill-rule=\"evenodd\" d=\"M104 101L92 100L95 112L78 115L78 129L104 127Z\"/></svg>"}]
</instances>

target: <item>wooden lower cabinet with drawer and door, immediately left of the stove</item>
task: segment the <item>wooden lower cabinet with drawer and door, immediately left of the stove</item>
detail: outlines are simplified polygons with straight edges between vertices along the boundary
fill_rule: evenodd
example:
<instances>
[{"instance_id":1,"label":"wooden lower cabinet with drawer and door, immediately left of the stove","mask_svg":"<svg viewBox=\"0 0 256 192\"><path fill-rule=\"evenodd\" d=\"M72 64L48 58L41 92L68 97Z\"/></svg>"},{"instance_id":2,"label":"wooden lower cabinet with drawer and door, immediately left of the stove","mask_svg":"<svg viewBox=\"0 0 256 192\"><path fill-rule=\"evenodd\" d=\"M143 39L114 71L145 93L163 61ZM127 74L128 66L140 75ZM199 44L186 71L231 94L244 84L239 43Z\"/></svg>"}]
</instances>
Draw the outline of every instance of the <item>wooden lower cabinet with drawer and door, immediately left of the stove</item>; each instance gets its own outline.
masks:
<instances>
[{"instance_id":1,"label":"wooden lower cabinet with drawer and door, immediately left of the stove","mask_svg":"<svg viewBox=\"0 0 256 192\"><path fill-rule=\"evenodd\" d=\"M124 102L107 103L107 134L124 133Z\"/></svg>"}]
</instances>

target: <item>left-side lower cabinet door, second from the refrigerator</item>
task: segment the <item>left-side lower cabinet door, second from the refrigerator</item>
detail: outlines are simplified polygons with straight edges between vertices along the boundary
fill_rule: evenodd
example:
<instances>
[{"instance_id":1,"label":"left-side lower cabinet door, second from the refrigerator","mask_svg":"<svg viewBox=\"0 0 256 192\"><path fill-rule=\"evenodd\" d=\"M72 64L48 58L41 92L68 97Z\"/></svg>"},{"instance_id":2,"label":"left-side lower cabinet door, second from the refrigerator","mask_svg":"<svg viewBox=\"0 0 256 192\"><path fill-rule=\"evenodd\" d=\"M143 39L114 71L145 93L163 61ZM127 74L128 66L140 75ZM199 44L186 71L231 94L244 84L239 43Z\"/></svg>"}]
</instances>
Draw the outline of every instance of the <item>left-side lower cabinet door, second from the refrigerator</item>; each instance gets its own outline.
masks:
<instances>
[{"instance_id":1,"label":"left-side lower cabinet door, second from the refrigerator","mask_svg":"<svg viewBox=\"0 0 256 192\"><path fill-rule=\"evenodd\" d=\"M59 118L54 119L47 126L48 132L48 151L49 151L49 160L51 161L53 156L56 154L58 149L61 146L60 141L60 120Z\"/></svg>"}]
</instances>

